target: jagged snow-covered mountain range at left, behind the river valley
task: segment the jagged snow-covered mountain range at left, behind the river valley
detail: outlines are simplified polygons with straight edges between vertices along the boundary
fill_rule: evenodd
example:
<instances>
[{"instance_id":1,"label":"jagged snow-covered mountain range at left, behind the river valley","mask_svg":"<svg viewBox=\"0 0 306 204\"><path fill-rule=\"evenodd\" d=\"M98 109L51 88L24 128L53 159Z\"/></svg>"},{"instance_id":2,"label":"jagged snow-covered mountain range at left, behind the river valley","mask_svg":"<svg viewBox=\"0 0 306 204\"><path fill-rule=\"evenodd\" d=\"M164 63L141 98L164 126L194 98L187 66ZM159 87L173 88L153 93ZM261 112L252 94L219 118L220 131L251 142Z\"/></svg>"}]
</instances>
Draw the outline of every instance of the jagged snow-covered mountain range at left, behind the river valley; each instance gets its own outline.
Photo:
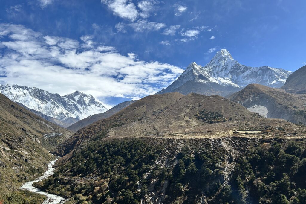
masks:
<instances>
[{"instance_id":1,"label":"jagged snow-covered mountain range at left, behind the river valley","mask_svg":"<svg viewBox=\"0 0 306 204\"><path fill-rule=\"evenodd\" d=\"M60 96L35 87L3 84L0 92L14 102L67 123L107 111L94 97L79 91Z\"/></svg>"}]
</instances>

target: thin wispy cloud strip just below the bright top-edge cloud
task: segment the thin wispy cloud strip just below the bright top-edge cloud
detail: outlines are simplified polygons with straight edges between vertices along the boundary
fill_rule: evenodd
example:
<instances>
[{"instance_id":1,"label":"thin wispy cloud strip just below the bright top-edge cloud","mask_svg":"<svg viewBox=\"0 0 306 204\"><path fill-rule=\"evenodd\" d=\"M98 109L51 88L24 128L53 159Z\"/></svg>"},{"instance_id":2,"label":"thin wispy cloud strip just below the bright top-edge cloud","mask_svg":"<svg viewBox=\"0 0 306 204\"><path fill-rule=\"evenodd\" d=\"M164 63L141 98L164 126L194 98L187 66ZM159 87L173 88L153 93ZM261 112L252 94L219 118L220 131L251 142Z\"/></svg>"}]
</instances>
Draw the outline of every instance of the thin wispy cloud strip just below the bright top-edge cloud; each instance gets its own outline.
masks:
<instances>
[{"instance_id":1,"label":"thin wispy cloud strip just below the bright top-edge cloud","mask_svg":"<svg viewBox=\"0 0 306 204\"><path fill-rule=\"evenodd\" d=\"M140 19L136 22L123 24L118 23L115 28L117 28L120 32L126 32L126 26L133 28L136 32L144 32L144 31L152 31L152 30L159 30L161 28L166 27L164 23L157 23L157 22L149 22L147 20Z\"/></svg>"}]
</instances>

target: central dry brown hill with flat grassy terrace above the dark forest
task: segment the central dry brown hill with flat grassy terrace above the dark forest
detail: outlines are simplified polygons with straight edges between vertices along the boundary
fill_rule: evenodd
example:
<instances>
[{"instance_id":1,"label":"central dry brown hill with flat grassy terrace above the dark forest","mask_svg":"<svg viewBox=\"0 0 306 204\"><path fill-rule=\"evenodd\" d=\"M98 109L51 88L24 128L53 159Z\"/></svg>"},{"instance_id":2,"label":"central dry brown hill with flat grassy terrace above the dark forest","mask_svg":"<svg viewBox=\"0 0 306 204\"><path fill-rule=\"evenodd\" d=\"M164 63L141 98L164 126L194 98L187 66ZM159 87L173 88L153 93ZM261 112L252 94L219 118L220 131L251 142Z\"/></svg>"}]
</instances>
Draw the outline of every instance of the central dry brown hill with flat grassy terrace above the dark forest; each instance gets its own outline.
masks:
<instances>
[{"instance_id":1,"label":"central dry brown hill with flat grassy terrace above the dark forest","mask_svg":"<svg viewBox=\"0 0 306 204\"><path fill-rule=\"evenodd\" d=\"M228 121L207 123L196 116L201 111L218 112ZM269 127L270 126L270 127ZM230 136L235 130L265 130L278 127L291 131L305 133L305 130L295 124L278 119L264 119L256 113L222 96L204 96L188 94L177 103L151 118L114 127L109 130L109 138L118 137L174 137L201 138ZM273 131L272 131L273 132ZM257 135L262 134L261 131ZM285 136L285 132L275 131L270 134Z\"/></svg>"}]
</instances>

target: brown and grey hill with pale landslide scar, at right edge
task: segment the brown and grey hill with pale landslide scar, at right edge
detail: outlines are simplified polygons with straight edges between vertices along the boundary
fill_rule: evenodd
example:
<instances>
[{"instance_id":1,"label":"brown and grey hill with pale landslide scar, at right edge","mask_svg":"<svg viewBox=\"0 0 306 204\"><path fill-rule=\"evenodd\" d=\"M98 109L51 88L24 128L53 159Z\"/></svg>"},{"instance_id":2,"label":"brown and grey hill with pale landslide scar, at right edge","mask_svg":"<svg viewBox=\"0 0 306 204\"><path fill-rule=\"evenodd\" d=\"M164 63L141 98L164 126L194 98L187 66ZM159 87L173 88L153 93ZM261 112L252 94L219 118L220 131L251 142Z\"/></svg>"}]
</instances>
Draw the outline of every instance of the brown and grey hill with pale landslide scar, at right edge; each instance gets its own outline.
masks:
<instances>
[{"instance_id":1,"label":"brown and grey hill with pale landslide scar, at right edge","mask_svg":"<svg viewBox=\"0 0 306 204\"><path fill-rule=\"evenodd\" d=\"M264 117L306 124L306 101L281 89L250 84L229 99Z\"/></svg>"}]
</instances>

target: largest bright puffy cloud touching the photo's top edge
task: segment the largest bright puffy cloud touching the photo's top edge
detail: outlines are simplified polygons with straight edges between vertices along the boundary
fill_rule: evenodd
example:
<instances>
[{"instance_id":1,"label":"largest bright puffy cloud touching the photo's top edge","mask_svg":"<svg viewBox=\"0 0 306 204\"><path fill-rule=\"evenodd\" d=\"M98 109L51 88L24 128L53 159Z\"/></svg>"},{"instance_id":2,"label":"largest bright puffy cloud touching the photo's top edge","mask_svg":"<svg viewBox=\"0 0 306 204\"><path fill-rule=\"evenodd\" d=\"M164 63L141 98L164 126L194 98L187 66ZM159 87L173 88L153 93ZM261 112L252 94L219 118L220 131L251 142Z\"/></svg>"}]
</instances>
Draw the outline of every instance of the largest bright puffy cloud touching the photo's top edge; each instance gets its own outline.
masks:
<instances>
[{"instance_id":1,"label":"largest bright puffy cloud touching the photo's top edge","mask_svg":"<svg viewBox=\"0 0 306 204\"><path fill-rule=\"evenodd\" d=\"M101 0L102 3L114 13L114 15L121 18L135 21L138 17L138 10L135 4L128 0Z\"/></svg>"}]
</instances>

